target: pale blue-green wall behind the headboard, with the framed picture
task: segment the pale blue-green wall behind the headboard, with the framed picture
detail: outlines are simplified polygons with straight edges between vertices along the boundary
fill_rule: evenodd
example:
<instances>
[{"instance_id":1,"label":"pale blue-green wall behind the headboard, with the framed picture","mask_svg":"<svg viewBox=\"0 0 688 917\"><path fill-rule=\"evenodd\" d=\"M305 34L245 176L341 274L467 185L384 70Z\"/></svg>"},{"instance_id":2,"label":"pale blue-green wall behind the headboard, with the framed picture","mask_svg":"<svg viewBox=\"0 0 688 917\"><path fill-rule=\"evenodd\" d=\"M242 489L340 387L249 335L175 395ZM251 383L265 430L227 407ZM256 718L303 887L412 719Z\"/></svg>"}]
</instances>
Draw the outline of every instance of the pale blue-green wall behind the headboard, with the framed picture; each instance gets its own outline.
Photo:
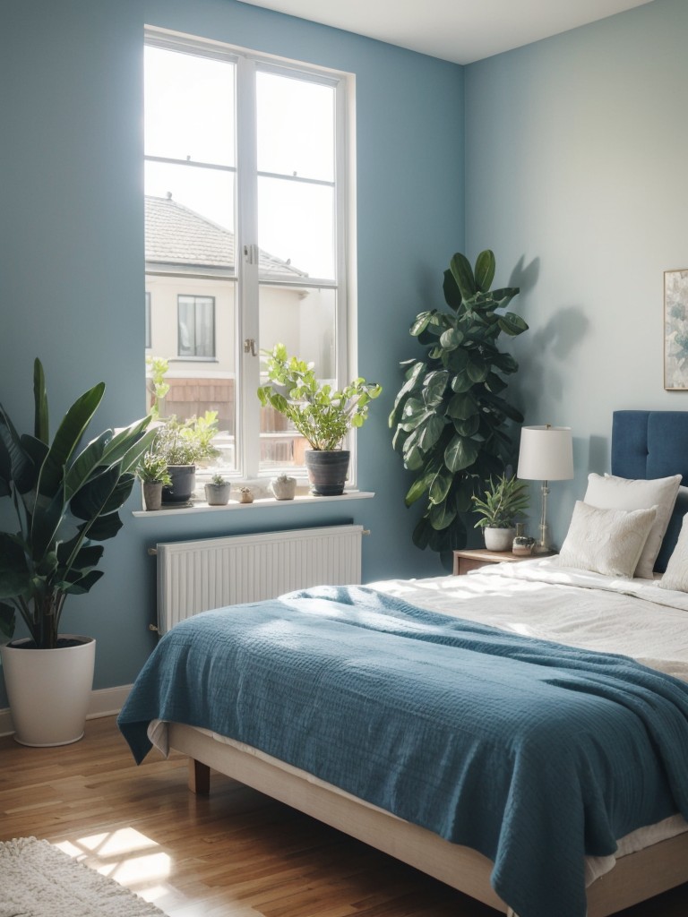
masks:
<instances>
[{"instance_id":1,"label":"pale blue-green wall behind the headboard, with the framed picture","mask_svg":"<svg viewBox=\"0 0 688 917\"><path fill-rule=\"evenodd\" d=\"M688 409L662 377L663 271L688 267L686 37L685 0L655 0L465 71L467 246L522 267L515 391L528 424L574 436L558 544L609 470L612 412Z\"/></svg>"}]
</instances>

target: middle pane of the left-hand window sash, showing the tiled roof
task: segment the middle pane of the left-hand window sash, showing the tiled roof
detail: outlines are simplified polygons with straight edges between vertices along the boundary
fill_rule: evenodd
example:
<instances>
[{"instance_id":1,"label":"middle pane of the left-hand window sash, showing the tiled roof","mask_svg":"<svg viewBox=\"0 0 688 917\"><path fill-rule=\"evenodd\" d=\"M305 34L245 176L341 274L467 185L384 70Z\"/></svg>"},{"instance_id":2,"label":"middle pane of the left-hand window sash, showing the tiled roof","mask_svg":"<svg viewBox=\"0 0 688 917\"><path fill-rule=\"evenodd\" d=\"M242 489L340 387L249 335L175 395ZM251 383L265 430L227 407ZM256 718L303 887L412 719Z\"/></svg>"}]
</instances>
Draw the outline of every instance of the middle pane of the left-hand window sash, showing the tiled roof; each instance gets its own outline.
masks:
<instances>
[{"instance_id":1,"label":"middle pane of the left-hand window sash, showing the tiled roof","mask_svg":"<svg viewBox=\"0 0 688 917\"><path fill-rule=\"evenodd\" d=\"M145 177L146 260L206 264L235 273L234 173L147 162ZM150 248L153 233L161 251Z\"/></svg>"}]
</instances>

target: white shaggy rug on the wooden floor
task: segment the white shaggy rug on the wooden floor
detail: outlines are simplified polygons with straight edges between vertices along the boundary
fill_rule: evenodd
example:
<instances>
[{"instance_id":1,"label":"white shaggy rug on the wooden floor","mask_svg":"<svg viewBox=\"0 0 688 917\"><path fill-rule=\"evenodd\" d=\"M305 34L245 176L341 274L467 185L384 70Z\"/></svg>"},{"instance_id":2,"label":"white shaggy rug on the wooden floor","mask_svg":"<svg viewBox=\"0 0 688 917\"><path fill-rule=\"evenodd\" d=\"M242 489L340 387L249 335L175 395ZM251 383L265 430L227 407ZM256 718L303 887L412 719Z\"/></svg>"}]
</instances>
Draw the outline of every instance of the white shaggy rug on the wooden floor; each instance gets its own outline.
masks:
<instances>
[{"instance_id":1,"label":"white shaggy rug on the wooden floor","mask_svg":"<svg viewBox=\"0 0 688 917\"><path fill-rule=\"evenodd\" d=\"M48 841L0 843L0 917L161 917L162 911Z\"/></svg>"}]
</instances>

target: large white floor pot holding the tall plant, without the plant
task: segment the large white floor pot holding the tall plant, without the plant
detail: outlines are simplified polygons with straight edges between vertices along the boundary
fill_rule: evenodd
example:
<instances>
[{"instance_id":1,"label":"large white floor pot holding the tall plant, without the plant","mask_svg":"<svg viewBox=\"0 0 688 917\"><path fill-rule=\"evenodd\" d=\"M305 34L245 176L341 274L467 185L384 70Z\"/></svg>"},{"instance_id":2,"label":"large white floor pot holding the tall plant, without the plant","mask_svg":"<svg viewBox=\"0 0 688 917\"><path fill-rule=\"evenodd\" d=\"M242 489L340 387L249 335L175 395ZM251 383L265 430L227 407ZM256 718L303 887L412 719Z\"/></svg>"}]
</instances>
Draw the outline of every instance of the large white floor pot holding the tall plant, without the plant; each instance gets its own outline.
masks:
<instances>
[{"instance_id":1,"label":"large white floor pot holding the tall plant, without the plant","mask_svg":"<svg viewBox=\"0 0 688 917\"><path fill-rule=\"evenodd\" d=\"M70 745L83 736L94 683L95 640L73 634L61 634L60 639L80 642L57 649L28 649L22 648L32 642L26 638L0 646L15 740L20 745Z\"/></svg>"}]
</instances>

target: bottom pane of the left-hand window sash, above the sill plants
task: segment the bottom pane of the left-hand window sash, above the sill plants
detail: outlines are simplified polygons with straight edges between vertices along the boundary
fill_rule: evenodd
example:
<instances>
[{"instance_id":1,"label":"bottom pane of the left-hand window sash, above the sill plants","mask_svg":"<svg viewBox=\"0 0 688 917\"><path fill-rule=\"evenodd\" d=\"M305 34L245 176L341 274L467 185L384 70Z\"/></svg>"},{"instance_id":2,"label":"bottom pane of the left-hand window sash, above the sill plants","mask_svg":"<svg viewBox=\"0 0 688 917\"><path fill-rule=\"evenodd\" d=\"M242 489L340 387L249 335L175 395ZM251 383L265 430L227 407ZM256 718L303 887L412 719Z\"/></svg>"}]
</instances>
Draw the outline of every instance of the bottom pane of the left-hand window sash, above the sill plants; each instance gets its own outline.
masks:
<instances>
[{"instance_id":1,"label":"bottom pane of the left-hand window sash, above the sill plants","mask_svg":"<svg viewBox=\"0 0 688 917\"><path fill-rule=\"evenodd\" d=\"M172 414L180 420L201 417L206 411L217 412L219 430L214 445L221 450L216 459L221 470L236 468L236 282L224 278L148 275L152 340L147 359L149 407L154 401L153 360L167 369L161 381L170 386L159 403L161 418ZM205 354L177 356L179 315L188 319L194 346L205 347L209 327L214 327L214 359L200 359ZM208 317L212 316L212 321ZM204 337L205 336L205 337ZM160 366L159 362L157 365Z\"/></svg>"}]
</instances>

